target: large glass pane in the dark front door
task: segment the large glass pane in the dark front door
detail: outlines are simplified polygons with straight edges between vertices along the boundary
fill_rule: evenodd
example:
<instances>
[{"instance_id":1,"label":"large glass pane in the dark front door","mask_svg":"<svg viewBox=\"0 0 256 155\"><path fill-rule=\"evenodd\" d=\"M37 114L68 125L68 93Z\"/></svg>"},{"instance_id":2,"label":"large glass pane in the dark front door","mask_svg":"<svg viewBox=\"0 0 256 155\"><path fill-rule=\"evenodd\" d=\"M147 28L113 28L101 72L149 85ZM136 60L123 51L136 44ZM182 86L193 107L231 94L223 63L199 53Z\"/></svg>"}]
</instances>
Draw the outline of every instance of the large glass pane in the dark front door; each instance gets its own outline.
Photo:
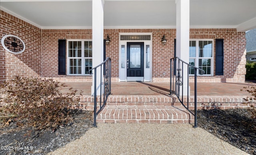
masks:
<instances>
[{"instance_id":1,"label":"large glass pane in the dark front door","mask_svg":"<svg viewBox=\"0 0 256 155\"><path fill-rule=\"evenodd\" d=\"M140 68L140 45L130 45L130 68Z\"/></svg>"}]
</instances>

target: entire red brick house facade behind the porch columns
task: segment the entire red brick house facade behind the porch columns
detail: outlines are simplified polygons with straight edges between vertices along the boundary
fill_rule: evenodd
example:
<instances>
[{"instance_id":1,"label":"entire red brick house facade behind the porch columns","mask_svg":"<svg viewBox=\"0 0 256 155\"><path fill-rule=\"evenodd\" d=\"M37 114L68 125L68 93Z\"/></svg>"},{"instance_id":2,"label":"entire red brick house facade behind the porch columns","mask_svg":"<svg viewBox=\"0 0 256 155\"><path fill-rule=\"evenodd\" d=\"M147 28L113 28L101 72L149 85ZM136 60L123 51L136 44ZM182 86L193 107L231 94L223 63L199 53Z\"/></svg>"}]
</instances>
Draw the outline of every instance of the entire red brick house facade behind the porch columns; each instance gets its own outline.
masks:
<instances>
[{"instance_id":1,"label":"entire red brick house facade behind the porch columns","mask_svg":"<svg viewBox=\"0 0 256 155\"><path fill-rule=\"evenodd\" d=\"M40 29L3 11L0 14L0 27L1 38L12 34L26 44L26 50L17 55L0 45L0 80L20 75L59 81L91 81L91 76L58 75L58 39L92 39L91 29ZM152 33L152 81L169 80L169 62L174 57L176 29L104 29L104 38L108 34L111 39L110 45L106 46L106 56L112 59L114 81L118 81L119 77L119 33ZM163 35L166 35L166 45L161 44ZM244 82L244 32L237 32L236 29L190 29L190 39L213 39L214 51L215 39L224 39L224 75L200 76L200 82Z\"/></svg>"}]
</instances>

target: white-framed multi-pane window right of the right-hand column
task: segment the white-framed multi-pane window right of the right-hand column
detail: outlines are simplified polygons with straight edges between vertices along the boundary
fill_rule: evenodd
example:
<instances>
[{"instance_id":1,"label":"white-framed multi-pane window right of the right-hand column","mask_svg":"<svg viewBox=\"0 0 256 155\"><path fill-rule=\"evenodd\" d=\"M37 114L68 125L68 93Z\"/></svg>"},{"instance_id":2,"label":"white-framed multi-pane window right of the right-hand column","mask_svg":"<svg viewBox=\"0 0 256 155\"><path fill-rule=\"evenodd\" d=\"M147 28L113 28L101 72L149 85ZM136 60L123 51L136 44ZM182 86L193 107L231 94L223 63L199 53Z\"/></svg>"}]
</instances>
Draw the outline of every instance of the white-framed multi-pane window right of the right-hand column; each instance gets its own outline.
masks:
<instances>
[{"instance_id":1,"label":"white-framed multi-pane window right of the right-hand column","mask_svg":"<svg viewBox=\"0 0 256 155\"><path fill-rule=\"evenodd\" d=\"M204 70L204 75L213 75L212 43L212 40L189 41L189 64ZM189 73L194 75L193 67L189 67Z\"/></svg>"}]
</instances>

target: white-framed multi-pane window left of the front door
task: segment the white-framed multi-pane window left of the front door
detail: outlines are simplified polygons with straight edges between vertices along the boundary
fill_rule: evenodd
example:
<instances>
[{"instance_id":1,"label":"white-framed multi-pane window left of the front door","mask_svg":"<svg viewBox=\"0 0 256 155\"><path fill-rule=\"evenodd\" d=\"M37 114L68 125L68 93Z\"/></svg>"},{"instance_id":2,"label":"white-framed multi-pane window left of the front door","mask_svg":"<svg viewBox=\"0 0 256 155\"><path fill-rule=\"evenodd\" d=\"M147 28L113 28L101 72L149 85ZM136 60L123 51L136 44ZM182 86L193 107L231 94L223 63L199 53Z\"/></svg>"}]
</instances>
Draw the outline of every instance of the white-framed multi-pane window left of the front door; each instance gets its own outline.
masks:
<instances>
[{"instance_id":1,"label":"white-framed multi-pane window left of the front door","mask_svg":"<svg viewBox=\"0 0 256 155\"><path fill-rule=\"evenodd\" d=\"M92 41L68 41L68 75L89 75Z\"/></svg>"}]
</instances>

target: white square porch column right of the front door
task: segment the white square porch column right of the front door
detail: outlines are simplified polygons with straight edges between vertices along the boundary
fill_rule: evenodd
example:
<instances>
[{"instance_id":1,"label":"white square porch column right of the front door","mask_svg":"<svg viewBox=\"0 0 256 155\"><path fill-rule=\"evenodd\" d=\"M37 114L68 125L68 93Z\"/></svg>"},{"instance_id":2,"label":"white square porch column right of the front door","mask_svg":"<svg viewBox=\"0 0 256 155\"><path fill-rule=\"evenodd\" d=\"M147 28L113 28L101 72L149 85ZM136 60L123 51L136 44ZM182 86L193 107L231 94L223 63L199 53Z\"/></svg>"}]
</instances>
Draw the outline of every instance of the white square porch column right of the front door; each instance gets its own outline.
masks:
<instances>
[{"instance_id":1,"label":"white square porch column right of the front door","mask_svg":"<svg viewBox=\"0 0 256 155\"><path fill-rule=\"evenodd\" d=\"M190 0L176 0L176 56L189 63L189 16ZM188 95L188 69L183 69L183 95ZM182 90L180 90L181 92ZM189 93L190 94L190 93ZM181 94L180 94L181 95Z\"/></svg>"}]
</instances>

